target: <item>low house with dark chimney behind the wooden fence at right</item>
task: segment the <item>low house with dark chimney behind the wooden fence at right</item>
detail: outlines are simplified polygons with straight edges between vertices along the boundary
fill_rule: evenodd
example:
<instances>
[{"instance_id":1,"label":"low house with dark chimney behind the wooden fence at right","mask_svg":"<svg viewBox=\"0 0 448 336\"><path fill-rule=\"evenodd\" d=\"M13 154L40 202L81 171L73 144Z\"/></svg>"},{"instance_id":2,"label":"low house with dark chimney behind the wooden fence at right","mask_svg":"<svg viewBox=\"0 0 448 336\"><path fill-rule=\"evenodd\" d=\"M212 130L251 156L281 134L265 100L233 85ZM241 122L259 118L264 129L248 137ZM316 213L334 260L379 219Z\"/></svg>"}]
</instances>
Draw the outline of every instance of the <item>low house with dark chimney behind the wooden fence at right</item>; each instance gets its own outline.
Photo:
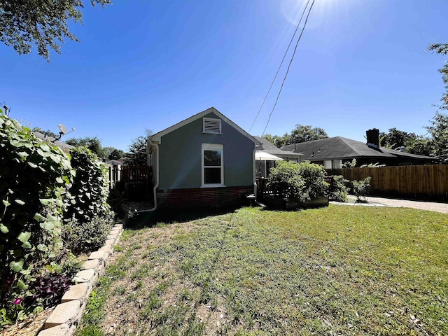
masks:
<instances>
[{"instance_id":1,"label":"low house with dark chimney behind the wooden fence at right","mask_svg":"<svg viewBox=\"0 0 448 336\"><path fill-rule=\"evenodd\" d=\"M378 130L373 130L378 131ZM375 132L377 134L378 132ZM345 162L356 159L356 167L379 165L426 165L437 163L437 158L393 151L380 147L378 137L367 131L367 144L344 137L332 137L282 146L283 151L302 153L302 160L323 165L326 169L339 169Z\"/></svg>"}]
</instances>

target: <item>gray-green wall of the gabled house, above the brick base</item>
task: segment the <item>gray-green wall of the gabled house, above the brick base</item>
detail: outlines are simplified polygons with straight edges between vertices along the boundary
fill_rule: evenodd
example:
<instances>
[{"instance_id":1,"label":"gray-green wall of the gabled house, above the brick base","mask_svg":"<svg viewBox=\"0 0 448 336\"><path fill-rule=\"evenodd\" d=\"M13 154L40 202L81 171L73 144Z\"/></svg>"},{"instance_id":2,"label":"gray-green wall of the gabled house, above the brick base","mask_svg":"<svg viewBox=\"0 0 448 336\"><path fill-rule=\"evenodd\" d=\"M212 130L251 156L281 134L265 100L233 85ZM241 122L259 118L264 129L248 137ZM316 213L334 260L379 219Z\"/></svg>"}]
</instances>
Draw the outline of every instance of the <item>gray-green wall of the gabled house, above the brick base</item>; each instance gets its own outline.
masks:
<instances>
[{"instance_id":1,"label":"gray-green wall of the gabled house, above the brick base","mask_svg":"<svg viewBox=\"0 0 448 336\"><path fill-rule=\"evenodd\" d=\"M218 118L209 113L205 118ZM225 186L253 184L253 141L221 121L223 134L202 134L202 118L174 130L159 146L160 189L199 188L202 183L202 144L222 144Z\"/></svg>"}]
</instances>

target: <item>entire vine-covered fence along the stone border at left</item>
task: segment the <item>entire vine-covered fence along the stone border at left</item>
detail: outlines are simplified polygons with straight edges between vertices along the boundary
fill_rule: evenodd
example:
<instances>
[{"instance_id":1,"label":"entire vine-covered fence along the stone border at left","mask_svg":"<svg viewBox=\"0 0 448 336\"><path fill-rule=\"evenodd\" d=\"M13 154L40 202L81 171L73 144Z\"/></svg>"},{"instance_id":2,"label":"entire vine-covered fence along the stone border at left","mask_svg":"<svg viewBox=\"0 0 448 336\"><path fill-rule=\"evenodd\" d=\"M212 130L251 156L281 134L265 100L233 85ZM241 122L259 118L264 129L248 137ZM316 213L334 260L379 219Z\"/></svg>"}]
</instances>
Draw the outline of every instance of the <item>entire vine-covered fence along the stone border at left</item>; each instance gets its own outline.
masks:
<instances>
[{"instance_id":1,"label":"entire vine-covered fence along the stone border at left","mask_svg":"<svg viewBox=\"0 0 448 336\"><path fill-rule=\"evenodd\" d=\"M101 246L112 225L95 155L71 158L1 112L0 328L58 300L76 269L71 249Z\"/></svg>"}]
</instances>

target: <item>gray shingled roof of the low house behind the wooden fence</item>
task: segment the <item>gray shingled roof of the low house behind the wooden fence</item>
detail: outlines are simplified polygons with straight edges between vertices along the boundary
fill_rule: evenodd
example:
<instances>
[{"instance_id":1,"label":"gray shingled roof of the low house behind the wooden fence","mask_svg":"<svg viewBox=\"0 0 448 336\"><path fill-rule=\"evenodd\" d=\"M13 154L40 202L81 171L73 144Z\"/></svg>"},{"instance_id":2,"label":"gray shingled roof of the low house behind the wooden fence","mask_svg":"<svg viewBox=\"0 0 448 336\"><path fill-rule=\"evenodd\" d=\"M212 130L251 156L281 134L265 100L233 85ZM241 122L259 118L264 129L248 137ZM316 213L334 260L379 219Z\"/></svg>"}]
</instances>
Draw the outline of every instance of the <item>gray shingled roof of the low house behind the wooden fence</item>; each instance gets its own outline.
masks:
<instances>
[{"instance_id":1,"label":"gray shingled roof of the low house behind the wooden fence","mask_svg":"<svg viewBox=\"0 0 448 336\"><path fill-rule=\"evenodd\" d=\"M282 146L284 151L303 153L304 160L332 160L349 158L396 158L391 153L367 146L361 141L332 137Z\"/></svg>"}]
</instances>

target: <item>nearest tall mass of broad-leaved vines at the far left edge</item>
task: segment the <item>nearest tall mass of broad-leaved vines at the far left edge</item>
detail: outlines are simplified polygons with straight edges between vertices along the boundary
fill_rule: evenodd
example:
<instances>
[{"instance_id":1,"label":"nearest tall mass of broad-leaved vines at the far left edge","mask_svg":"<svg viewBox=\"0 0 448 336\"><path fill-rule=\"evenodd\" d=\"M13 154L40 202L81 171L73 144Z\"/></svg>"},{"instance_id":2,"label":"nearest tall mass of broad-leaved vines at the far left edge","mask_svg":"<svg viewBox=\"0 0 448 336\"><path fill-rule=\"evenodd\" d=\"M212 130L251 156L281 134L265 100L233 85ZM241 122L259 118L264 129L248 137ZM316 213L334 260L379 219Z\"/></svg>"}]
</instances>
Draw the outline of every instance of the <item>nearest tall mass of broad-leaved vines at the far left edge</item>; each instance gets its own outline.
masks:
<instances>
[{"instance_id":1,"label":"nearest tall mass of broad-leaved vines at the far left edge","mask_svg":"<svg viewBox=\"0 0 448 336\"><path fill-rule=\"evenodd\" d=\"M0 325L24 318L29 286L64 253L64 193L69 157L27 127L0 114ZM31 309L31 307L28 307Z\"/></svg>"}]
</instances>

